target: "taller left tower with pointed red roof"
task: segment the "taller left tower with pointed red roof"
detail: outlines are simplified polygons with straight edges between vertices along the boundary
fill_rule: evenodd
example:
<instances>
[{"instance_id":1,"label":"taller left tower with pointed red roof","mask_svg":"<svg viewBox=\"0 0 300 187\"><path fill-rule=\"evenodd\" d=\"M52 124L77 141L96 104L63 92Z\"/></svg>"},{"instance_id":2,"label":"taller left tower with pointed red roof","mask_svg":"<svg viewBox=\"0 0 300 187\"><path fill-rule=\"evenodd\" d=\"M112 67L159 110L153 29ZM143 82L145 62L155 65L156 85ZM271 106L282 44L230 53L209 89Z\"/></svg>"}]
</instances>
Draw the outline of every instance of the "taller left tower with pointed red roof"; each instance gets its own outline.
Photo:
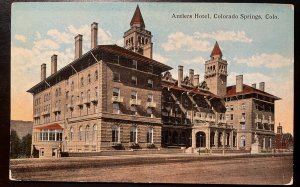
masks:
<instances>
[{"instance_id":1,"label":"taller left tower with pointed red roof","mask_svg":"<svg viewBox=\"0 0 300 187\"><path fill-rule=\"evenodd\" d=\"M123 38L124 48L152 59L152 35L145 29L144 19L138 5L130 21L130 29L124 33Z\"/></svg>"}]
</instances>

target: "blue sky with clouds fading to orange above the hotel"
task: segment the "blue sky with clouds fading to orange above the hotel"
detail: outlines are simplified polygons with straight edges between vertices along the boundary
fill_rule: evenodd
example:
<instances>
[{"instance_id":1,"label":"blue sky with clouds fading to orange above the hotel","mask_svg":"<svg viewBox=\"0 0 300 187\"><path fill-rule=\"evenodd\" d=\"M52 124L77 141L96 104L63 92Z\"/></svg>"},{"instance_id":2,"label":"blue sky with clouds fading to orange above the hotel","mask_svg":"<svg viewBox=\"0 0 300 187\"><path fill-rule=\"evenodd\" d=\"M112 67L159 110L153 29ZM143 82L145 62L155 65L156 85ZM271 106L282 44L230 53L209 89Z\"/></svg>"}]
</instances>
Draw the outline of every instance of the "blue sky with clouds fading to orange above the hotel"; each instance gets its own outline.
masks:
<instances>
[{"instance_id":1,"label":"blue sky with clouds fading to orange above the hotel","mask_svg":"<svg viewBox=\"0 0 300 187\"><path fill-rule=\"evenodd\" d=\"M259 82L265 82L265 91L281 98L275 105L275 126L280 123L284 132L293 133L292 5L174 2L138 5L146 29L153 35L153 58L173 67L174 78L178 65L183 65L185 75L188 69L194 69L202 81L205 60L210 58L218 41L223 59L228 62L228 86L234 85L236 75L240 74L244 84L258 86ZM14 3L11 119L32 120L32 95L26 91L40 82L41 64L47 64L49 76L53 54L58 55L58 69L72 62L77 34L83 35L83 53L90 50L91 23L98 23L98 44L123 46L123 34L130 28L136 6L136 2ZM182 14L191 18L179 18ZM209 17L195 18L195 14Z\"/></svg>"}]
</instances>

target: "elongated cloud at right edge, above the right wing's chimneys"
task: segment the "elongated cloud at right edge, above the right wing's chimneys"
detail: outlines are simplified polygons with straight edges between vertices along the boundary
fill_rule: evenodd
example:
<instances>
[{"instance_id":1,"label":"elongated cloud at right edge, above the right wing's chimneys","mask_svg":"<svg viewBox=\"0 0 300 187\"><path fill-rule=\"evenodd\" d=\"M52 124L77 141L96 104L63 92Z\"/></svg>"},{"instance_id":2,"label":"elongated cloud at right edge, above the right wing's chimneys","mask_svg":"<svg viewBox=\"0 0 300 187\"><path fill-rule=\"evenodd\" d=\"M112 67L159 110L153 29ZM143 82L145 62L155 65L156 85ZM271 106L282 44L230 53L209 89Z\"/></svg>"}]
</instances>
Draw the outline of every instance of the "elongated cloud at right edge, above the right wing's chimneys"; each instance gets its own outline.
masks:
<instances>
[{"instance_id":1,"label":"elongated cloud at right edge, above the right wing's chimneys","mask_svg":"<svg viewBox=\"0 0 300 187\"><path fill-rule=\"evenodd\" d=\"M266 67L266 68L281 68L289 66L293 63L293 59L281 56L278 53L261 53L253 55L249 58L234 58L234 61L239 64L247 64L250 67Z\"/></svg>"}]
</instances>

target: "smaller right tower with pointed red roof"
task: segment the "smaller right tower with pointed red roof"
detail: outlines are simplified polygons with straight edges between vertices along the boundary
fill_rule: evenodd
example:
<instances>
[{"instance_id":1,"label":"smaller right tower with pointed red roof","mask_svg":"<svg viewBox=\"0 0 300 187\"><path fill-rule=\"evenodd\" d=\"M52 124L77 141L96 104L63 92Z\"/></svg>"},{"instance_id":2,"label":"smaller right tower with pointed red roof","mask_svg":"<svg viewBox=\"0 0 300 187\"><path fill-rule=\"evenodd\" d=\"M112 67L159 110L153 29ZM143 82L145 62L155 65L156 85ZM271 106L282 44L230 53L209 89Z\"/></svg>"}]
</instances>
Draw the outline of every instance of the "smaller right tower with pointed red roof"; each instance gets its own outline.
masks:
<instances>
[{"instance_id":1,"label":"smaller right tower with pointed red roof","mask_svg":"<svg viewBox=\"0 0 300 187\"><path fill-rule=\"evenodd\" d=\"M210 60L205 62L204 80L209 91L217 96L224 96L227 87L227 61L222 59L218 42L211 52Z\"/></svg>"}]
</instances>

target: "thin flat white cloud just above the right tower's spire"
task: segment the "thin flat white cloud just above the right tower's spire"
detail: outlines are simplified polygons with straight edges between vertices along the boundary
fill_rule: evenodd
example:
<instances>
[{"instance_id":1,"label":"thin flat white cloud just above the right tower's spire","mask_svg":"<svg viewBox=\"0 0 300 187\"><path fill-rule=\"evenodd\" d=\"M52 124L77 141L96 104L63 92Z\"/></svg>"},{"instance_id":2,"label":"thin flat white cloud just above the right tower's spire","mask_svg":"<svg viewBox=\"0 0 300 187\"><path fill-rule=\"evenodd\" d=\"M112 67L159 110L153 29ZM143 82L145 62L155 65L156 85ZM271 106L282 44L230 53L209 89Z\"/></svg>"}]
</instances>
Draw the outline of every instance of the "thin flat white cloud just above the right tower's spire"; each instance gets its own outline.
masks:
<instances>
[{"instance_id":1,"label":"thin flat white cloud just above the right tower's spire","mask_svg":"<svg viewBox=\"0 0 300 187\"><path fill-rule=\"evenodd\" d=\"M252 39L246 36L244 31L217 31L212 33L199 33L196 32L195 38L202 39L213 39L216 41L234 41L234 42L244 42L251 43Z\"/></svg>"}]
</instances>

